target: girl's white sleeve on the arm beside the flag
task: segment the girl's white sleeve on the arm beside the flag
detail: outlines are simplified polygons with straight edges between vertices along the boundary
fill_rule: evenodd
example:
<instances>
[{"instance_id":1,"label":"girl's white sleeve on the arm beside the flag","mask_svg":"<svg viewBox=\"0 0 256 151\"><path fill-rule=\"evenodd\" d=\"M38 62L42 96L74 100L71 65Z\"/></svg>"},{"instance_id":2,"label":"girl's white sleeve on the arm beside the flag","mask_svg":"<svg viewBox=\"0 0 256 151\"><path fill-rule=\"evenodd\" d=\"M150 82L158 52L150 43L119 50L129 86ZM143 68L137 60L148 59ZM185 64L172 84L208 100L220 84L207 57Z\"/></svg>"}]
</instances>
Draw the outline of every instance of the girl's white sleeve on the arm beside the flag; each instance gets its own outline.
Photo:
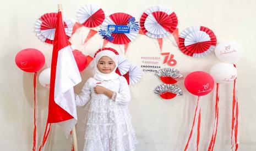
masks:
<instances>
[{"instance_id":1,"label":"girl's white sleeve on the arm beside the flag","mask_svg":"<svg viewBox=\"0 0 256 151\"><path fill-rule=\"evenodd\" d=\"M91 90L90 90L90 79L84 84L83 89L79 95L75 94L75 105L76 106L84 106L91 98Z\"/></svg>"}]
</instances>

